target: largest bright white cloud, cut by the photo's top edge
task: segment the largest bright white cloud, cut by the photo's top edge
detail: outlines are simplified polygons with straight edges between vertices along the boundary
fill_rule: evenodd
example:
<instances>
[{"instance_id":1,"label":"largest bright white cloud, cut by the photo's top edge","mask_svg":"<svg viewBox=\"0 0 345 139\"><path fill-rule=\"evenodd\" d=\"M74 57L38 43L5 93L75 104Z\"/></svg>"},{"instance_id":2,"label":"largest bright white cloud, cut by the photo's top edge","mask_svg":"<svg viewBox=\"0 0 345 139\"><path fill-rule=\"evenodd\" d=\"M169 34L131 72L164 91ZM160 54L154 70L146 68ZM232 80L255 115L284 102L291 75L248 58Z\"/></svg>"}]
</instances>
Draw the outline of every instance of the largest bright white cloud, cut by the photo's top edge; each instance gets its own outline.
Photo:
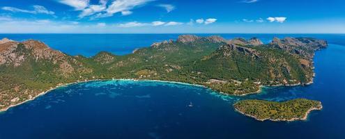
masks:
<instances>
[{"instance_id":1,"label":"largest bright white cloud, cut by the photo's top edge","mask_svg":"<svg viewBox=\"0 0 345 139\"><path fill-rule=\"evenodd\" d=\"M101 17L112 17L115 13L121 13L122 15L129 15L132 13L133 8L137 6L143 6L148 2L154 0L116 0L113 1L105 10L105 13L98 13L93 18L101 18Z\"/></svg>"}]
</instances>

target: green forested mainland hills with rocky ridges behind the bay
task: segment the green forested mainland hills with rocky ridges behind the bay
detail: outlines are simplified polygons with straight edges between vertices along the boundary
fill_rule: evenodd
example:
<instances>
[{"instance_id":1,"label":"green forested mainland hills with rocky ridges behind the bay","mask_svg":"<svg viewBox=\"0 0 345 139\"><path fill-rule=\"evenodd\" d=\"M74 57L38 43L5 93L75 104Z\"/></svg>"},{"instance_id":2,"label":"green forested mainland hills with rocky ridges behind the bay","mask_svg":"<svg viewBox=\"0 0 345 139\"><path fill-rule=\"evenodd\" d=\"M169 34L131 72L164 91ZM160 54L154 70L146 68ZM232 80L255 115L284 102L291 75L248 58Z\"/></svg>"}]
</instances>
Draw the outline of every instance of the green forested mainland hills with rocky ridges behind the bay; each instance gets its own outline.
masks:
<instances>
[{"instance_id":1,"label":"green forested mainland hills with rocky ridges behind the bay","mask_svg":"<svg viewBox=\"0 0 345 139\"><path fill-rule=\"evenodd\" d=\"M257 92L260 85L312 83L314 38L252 38L181 35L133 54L68 56L37 40L0 40L0 108L33 99L56 85L93 79L148 79L205 85L229 95Z\"/></svg>"}]
</instances>

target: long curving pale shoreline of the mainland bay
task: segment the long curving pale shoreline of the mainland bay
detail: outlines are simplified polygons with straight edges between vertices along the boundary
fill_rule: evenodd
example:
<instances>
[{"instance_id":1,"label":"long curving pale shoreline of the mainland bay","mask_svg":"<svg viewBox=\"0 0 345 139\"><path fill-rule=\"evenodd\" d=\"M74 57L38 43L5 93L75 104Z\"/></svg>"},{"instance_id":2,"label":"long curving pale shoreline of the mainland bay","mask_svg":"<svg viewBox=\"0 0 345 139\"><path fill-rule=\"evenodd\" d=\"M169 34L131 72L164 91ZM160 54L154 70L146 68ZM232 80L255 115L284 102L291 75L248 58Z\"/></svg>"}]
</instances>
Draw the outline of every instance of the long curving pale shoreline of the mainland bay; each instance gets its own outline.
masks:
<instances>
[{"instance_id":1,"label":"long curving pale shoreline of the mainland bay","mask_svg":"<svg viewBox=\"0 0 345 139\"><path fill-rule=\"evenodd\" d=\"M84 81L75 81L75 82L66 83L66 84L63 84L63 85L56 85L55 87L52 87L49 90L46 90L44 92L39 93L38 95L32 97L31 99L27 99L27 100L22 101L22 102L20 102L18 104L10 105L10 106L8 106L6 108L1 108L0 109L0 113L8 111L9 108L12 108L12 107L15 107L15 106L19 106L19 105L24 104L24 103L26 103L28 101L32 101L33 99L36 99L37 97L45 95L47 92L50 92L50 91L55 90L57 88L66 87L68 85L77 84L77 83L87 83L87 82L91 82L91 81L152 81L152 82L160 82L160 83L174 83L174 84L179 84L179 85L197 86L197 87L207 88L207 89L213 90L212 88L209 88L209 87L207 87L205 85L199 85L199 84L194 84L194 83L183 83L183 82L179 82L179 81L164 81L164 80L150 80L150 79L92 79L92 80L84 80ZM312 84L313 81L310 81L309 83ZM287 86L297 86L297 85L302 85L302 84L298 83L298 84L293 84L293 85L284 85L284 84L279 84L279 85L259 85L259 90L257 90L256 92L248 92L248 93L245 93L245 94L242 94L242 95L230 95L230 94L227 94L225 92L220 92L220 91L217 91L217 90L213 90L213 91L217 92L217 93L220 93L221 95L243 97L243 96L246 96L246 95L259 94L262 91L262 88L265 88L265 87L279 87L279 86L286 86L287 87Z\"/></svg>"}]
</instances>

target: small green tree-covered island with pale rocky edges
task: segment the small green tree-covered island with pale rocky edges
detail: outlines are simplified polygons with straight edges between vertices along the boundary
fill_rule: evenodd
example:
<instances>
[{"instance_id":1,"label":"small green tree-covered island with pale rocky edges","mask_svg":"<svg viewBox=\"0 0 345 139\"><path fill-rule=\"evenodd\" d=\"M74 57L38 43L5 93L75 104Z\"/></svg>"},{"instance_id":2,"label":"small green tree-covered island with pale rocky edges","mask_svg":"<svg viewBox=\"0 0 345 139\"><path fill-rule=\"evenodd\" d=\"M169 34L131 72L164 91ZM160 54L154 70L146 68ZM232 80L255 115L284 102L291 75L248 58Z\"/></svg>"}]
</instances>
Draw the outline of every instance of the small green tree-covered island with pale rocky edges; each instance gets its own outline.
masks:
<instances>
[{"instance_id":1,"label":"small green tree-covered island with pale rocky edges","mask_svg":"<svg viewBox=\"0 0 345 139\"><path fill-rule=\"evenodd\" d=\"M309 99L284 102L249 99L238 101L233 107L239 113L260 121L296 121L307 120L311 111L322 109L322 104L320 101Z\"/></svg>"}]
</instances>

